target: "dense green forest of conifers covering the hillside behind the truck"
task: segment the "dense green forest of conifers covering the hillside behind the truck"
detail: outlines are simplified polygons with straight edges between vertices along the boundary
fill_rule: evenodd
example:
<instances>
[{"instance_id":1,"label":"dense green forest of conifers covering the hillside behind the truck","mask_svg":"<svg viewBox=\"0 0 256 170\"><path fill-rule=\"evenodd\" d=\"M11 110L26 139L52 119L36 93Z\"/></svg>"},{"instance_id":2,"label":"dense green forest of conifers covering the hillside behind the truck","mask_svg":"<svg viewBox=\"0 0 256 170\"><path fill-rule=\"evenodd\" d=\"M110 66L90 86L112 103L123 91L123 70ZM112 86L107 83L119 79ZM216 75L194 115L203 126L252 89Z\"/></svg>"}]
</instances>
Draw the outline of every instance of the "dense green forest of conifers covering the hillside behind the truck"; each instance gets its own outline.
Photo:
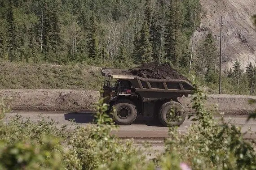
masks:
<instances>
[{"instance_id":1,"label":"dense green forest of conifers covering the hillside behind the truck","mask_svg":"<svg viewBox=\"0 0 256 170\"><path fill-rule=\"evenodd\" d=\"M200 0L0 0L0 59L115 68L169 62L184 74L191 70L201 83L216 90L219 39L211 16L217 22L220 13L215 14L215 6L208 4ZM226 19L231 14L225 14ZM240 45L225 42L230 33L225 29L226 61L231 58L228 49L240 49ZM244 64L234 58L230 66L223 72L224 93L254 93L254 62ZM4 81L6 75L2 76Z\"/></svg>"}]
</instances>

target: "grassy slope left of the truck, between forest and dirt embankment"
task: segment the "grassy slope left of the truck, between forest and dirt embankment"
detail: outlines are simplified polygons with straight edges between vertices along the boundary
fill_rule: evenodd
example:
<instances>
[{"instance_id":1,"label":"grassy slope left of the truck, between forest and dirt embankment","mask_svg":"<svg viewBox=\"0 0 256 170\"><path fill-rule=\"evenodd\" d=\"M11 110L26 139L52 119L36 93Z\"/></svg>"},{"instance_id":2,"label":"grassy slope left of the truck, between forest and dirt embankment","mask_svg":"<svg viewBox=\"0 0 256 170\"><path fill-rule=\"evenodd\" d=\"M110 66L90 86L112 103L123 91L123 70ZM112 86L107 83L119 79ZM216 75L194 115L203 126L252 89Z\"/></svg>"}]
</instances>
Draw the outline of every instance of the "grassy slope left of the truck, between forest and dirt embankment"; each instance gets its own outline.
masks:
<instances>
[{"instance_id":1,"label":"grassy slope left of the truck, between forest and dirt embankment","mask_svg":"<svg viewBox=\"0 0 256 170\"><path fill-rule=\"evenodd\" d=\"M100 90L100 68L83 64L50 65L0 63L0 89L93 89Z\"/></svg>"}]
</instances>

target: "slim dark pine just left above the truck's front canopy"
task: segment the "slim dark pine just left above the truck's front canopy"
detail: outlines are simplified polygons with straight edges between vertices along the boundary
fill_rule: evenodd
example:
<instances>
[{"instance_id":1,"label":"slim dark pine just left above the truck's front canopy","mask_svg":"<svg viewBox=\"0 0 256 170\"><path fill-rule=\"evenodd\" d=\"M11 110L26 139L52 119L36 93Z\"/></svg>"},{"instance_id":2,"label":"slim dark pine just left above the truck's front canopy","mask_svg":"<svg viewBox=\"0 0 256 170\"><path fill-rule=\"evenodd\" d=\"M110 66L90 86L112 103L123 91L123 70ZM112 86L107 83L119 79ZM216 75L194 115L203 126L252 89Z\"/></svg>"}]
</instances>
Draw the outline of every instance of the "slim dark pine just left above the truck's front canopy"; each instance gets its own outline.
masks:
<instances>
[{"instance_id":1,"label":"slim dark pine just left above the truck's front canopy","mask_svg":"<svg viewBox=\"0 0 256 170\"><path fill-rule=\"evenodd\" d=\"M97 59L99 55L99 45L97 38L97 22L94 14L91 16L90 22L88 34L88 57L91 59Z\"/></svg>"}]
</instances>

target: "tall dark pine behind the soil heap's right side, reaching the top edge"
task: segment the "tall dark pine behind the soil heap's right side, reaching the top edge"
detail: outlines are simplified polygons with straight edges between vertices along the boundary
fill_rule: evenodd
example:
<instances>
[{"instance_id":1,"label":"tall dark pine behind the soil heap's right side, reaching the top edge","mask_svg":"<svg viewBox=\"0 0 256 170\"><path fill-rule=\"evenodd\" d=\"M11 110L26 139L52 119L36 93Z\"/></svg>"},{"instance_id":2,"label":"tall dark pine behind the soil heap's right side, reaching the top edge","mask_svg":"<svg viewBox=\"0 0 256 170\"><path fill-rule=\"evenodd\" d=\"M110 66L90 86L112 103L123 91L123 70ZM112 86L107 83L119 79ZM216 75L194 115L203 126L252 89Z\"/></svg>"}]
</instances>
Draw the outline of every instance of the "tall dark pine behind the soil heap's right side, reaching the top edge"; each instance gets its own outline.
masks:
<instances>
[{"instance_id":1,"label":"tall dark pine behind the soil heap's right side, reaching the top edge","mask_svg":"<svg viewBox=\"0 0 256 170\"><path fill-rule=\"evenodd\" d=\"M166 30L165 30L165 53L166 59L171 60L173 65L177 64L177 46L178 38L181 33L182 23L182 2L181 0L170 0L168 6L168 14L166 16Z\"/></svg>"}]
</instances>

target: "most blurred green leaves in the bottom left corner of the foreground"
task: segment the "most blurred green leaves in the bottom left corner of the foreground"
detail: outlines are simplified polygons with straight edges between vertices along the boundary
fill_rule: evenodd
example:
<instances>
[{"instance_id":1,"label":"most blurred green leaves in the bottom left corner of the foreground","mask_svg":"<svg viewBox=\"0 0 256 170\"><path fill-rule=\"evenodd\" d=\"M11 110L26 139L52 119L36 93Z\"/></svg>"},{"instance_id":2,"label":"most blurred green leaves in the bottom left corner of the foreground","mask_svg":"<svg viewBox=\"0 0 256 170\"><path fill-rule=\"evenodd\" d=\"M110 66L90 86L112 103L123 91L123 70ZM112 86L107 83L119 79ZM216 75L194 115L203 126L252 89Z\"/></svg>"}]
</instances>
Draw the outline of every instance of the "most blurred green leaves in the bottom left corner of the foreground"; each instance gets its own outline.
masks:
<instances>
[{"instance_id":1,"label":"most blurred green leaves in the bottom left corner of the foreground","mask_svg":"<svg viewBox=\"0 0 256 170\"><path fill-rule=\"evenodd\" d=\"M27 140L0 149L1 170L59 170L61 155L54 151L59 142L43 138L43 143Z\"/></svg>"}]
</instances>

